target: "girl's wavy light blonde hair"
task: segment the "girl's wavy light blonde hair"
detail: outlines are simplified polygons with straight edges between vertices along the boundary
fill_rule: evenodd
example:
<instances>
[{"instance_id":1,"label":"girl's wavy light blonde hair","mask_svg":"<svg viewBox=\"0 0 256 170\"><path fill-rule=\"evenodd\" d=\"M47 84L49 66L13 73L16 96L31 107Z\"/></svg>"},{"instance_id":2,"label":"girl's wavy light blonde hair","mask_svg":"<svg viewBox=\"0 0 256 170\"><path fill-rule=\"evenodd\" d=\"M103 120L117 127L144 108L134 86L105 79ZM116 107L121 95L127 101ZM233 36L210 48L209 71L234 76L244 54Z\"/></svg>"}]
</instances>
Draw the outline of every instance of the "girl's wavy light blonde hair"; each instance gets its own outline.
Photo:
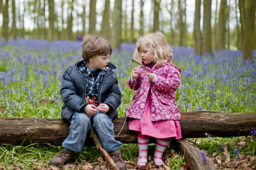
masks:
<instances>
[{"instance_id":1,"label":"girl's wavy light blonde hair","mask_svg":"<svg viewBox=\"0 0 256 170\"><path fill-rule=\"evenodd\" d=\"M162 32L157 31L138 38L133 58L140 63L141 45L146 45L154 52L154 62L156 62L157 65L162 65L166 60L172 61L173 59L172 48L168 45L168 41Z\"/></svg>"}]
</instances>

